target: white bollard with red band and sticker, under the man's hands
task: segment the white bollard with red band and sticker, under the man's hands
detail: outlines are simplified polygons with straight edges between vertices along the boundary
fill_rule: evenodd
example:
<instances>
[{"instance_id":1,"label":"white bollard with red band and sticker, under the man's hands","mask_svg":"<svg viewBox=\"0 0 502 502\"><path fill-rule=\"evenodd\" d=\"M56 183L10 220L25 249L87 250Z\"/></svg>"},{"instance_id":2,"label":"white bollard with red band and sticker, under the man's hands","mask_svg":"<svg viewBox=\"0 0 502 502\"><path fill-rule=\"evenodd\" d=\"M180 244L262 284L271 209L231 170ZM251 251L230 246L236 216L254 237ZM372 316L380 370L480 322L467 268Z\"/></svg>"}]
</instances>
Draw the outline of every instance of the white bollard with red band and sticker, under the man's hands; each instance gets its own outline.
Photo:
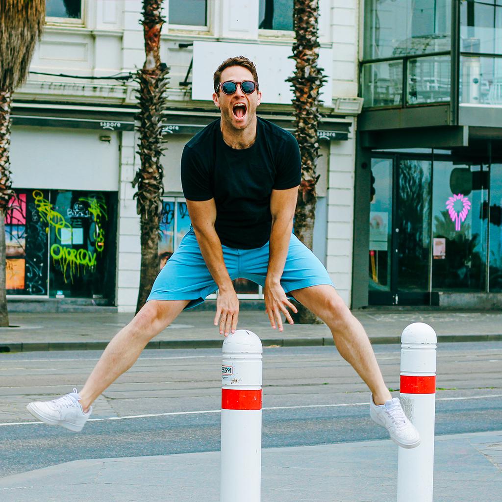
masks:
<instances>
[{"instance_id":1,"label":"white bollard with red band and sticker, under the man's hands","mask_svg":"<svg viewBox=\"0 0 502 502\"><path fill-rule=\"evenodd\" d=\"M260 502L262 353L260 338L244 329L223 342L220 502Z\"/></svg>"}]
</instances>

